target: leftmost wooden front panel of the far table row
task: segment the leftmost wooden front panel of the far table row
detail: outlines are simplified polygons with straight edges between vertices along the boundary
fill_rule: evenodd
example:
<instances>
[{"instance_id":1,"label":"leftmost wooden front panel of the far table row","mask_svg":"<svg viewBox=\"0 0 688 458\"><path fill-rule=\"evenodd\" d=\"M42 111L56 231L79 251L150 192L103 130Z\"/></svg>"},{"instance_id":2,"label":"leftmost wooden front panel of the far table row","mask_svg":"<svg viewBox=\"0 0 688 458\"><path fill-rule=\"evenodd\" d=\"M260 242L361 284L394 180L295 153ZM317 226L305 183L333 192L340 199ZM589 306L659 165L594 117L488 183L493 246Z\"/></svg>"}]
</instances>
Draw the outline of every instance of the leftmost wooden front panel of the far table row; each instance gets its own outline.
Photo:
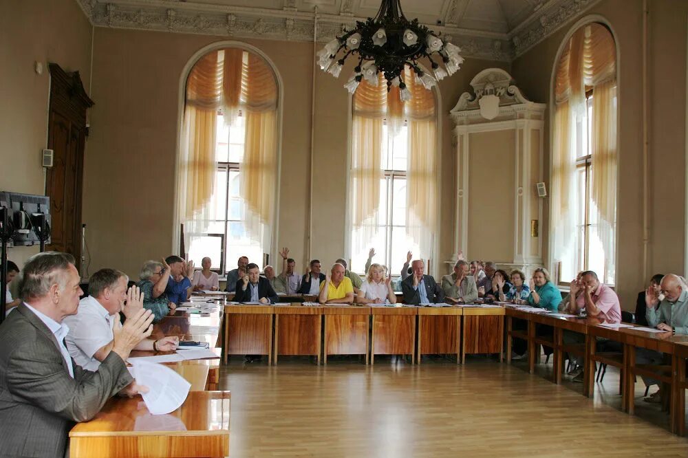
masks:
<instances>
[{"instance_id":1,"label":"leftmost wooden front panel of the far table row","mask_svg":"<svg viewBox=\"0 0 688 458\"><path fill-rule=\"evenodd\" d=\"M229 355L267 355L272 358L272 314L270 305L226 305L224 307L224 363Z\"/></svg>"}]
</instances>

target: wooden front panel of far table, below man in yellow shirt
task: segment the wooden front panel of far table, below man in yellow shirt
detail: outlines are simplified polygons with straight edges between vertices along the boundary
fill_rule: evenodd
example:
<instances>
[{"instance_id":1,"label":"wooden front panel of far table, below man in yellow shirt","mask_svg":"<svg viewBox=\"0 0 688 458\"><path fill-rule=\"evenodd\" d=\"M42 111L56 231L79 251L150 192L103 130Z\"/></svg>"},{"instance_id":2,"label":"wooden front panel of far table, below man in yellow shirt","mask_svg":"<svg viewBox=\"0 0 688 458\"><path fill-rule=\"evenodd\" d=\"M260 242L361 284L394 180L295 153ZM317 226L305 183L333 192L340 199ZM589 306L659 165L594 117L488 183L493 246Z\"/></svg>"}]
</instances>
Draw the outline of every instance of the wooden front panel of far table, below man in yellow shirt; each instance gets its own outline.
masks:
<instances>
[{"instance_id":1,"label":"wooden front panel of far table, below man in yellow shirt","mask_svg":"<svg viewBox=\"0 0 688 458\"><path fill-rule=\"evenodd\" d=\"M370 307L323 306L325 351L327 355L365 355L368 364Z\"/></svg>"}]
</instances>

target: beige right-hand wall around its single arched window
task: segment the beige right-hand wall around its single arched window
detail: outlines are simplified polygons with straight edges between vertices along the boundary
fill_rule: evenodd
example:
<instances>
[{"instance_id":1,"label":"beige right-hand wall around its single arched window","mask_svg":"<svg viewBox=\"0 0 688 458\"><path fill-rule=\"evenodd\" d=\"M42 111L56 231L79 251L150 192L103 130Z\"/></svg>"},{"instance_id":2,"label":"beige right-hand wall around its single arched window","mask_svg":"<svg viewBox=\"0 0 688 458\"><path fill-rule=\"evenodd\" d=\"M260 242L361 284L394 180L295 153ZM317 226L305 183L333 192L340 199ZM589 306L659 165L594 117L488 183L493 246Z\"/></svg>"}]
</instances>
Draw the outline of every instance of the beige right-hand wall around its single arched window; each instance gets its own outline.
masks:
<instances>
[{"instance_id":1,"label":"beige right-hand wall around its single arched window","mask_svg":"<svg viewBox=\"0 0 688 458\"><path fill-rule=\"evenodd\" d=\"M688 14L688 3L685 1L650 0L648 3L650 219L647 276L655 272L684 271ZM600 14L607 19L620 52L617 290L622 307L633 309L636 293L647 282L643 278L642 1L601 1L517 58L513 62L512 72L530 98L549 103L550 76L559 45L573 23L587 14ZM546 158L549 157L549 151L549 131L546 127ZM547 159L544 166L548 171ZM542 229L544 248L547 248L548 224L545 223Z\"/></svg>"}]
</instances>

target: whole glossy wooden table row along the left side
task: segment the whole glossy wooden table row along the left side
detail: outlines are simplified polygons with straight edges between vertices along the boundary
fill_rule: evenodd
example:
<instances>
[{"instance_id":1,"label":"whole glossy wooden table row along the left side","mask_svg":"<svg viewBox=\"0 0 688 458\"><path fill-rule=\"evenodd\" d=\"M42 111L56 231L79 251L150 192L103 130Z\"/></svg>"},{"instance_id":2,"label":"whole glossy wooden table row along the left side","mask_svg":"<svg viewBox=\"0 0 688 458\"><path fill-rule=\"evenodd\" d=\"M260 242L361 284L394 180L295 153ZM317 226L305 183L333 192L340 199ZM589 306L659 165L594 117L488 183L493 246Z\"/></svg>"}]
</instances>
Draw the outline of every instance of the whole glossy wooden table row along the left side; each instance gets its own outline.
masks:
<instances>
[{"instance_id":1,"label":"whole glossy wooden table row along the left side","mask_svg":"<svg viewBox=\"0 0 688 458\"><path fill-rule=\"evenodd\" d=\"M223 319L219 310L214 314L175 312L156 324L151 338L178 336L208 342L218 358L164 363L191 383L186 400L172 413L151 415L138 396L112 397L94 419L76 424L69 432L69 456L227 457L230 392L208 391L219 382L222 349L214 345ZM166 353L132 351L131 356L159 354Z\"/></svg>"}]
</instances>

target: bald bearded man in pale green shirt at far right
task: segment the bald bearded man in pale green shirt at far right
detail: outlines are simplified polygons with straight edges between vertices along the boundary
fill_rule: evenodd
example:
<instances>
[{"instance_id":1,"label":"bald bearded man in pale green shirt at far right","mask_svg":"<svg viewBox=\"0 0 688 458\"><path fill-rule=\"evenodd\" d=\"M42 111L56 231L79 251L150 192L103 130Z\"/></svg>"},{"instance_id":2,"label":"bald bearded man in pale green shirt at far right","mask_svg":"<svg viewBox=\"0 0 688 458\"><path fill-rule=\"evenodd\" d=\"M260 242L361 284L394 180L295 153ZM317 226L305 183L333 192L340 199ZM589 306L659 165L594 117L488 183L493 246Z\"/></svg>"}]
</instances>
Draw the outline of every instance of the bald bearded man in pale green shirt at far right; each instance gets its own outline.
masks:
<instances>
[{"instance_id":1,"label":"bald bearded man in pale green shirt at far right","mask_svg":"<svg viewBox=\"0 0 688 458\"><path fill-rule=\"evenodd\" d=\"M664 294L660 301L659 294ZM675 274L665 275L660 282L660 292L652 287L645 291L645 318L647 324L675 335L688 334L688 291L680 277ZM661 364L664 356L658 351L636 349L636 364ZM643 377L645 385L659 384L657 380ZM647 402L661 402L660 391L646 397Z\"/></svg>"}]
</instances>

